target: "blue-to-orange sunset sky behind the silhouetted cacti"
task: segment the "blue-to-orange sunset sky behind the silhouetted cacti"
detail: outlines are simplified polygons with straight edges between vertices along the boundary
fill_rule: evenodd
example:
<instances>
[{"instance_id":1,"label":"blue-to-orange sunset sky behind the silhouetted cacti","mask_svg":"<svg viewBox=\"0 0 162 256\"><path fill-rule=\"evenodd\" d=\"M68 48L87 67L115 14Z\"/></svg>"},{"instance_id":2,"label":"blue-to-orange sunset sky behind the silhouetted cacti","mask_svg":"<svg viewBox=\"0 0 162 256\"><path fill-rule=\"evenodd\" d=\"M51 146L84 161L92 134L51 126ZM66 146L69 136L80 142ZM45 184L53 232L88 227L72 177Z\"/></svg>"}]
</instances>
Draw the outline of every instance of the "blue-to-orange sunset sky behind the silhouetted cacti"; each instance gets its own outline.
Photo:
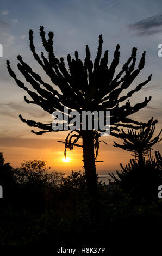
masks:
<instances>
[{"instance_id":1,"label":"blue-to-orange sunset sky behind the silhouetted cacti","mask_svg":"<svg viewBox=\"0 0 162 256\"><path fill-rule=\"evenodd\" d=\"M88 44L92 60L96 56L98 35L103 34L103 50L109 50L109 63L113 59L116 44L120 44L120 65L130 57L133 47L138 48L138 59L146 50L146 65L132 83L131 88L145 81L153 74L152 81L140 92L135 93L130 102L142 102L152 96L151 102L144 109L131 116L134 120L148 121L152 116L157 119L157 132L161 129L162 98L162 57L158 56L158 45L162 44L162 11L161 1L146 0L40 0L40 1L1 1L0 7L0 43L3 45L3 57L0 57L0 151L13 167L20 166L23 160L45 160L52 169L65 171L83 170L82 150L74 148L67 151L70 162L63 162L64 140L67 132L52 132L45 135L34 135L31 128L22 123L23 118L51 122L52 117L39 106L27 105L23 100L26 95L7 71L6 60L10 60L18 78L24 81L17 69L17 55L38 72L43 80L51 83L49 78L35 63L29 49L28 31L33 29L36 51L42 51L39 27L46 32L54 32L54 49L57 57L68 53L74 56L77 50L79 58L85 57L85 45ZM28 96L29 98L29 96ZM109 136L99 149L98 173L120 169L120 163L128 163L131 155L122 149L113 147L114 137ZM153 149L161 150L162 143Z\"/></svg>"}]
</instances>

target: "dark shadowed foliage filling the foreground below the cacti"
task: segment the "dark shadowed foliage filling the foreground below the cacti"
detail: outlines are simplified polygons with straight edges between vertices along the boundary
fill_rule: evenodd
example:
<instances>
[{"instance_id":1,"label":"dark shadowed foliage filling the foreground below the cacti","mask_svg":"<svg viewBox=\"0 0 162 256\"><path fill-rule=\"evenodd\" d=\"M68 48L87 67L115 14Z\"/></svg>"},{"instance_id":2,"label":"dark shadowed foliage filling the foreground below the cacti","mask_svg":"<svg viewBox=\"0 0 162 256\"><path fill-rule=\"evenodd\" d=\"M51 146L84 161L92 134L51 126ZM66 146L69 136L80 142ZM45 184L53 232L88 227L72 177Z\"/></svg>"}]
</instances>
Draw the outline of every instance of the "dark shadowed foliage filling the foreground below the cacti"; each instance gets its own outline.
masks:
<instances>
[{"instance_id":1,"label":"dark shadowed foliage filling the foreground below the cacti","mask_svg":"<svg viewBox=\"0 0 162 256\"><path fill-rule=\"evenodd\" d=\"M160 154L156 155L157 162L160 162ZM1 160L4 164L3 157ZM156 168L154 160L152 166ZM15 184L21 186L12 203L6 202L5 198L0 200L0 246L45 247L46 251L52 249L54 254L61 247L104 247L107 254L113 255L129 252L128 244L134 251L139 252L140 249L145 253L151 247L155 253L160 245L159 233L156 236L156 232L162 228L161 200L147 204L143 198L145 203L136 204L120 187L109 194L106 187L99 183L98 197L90 197L85 189L85 174L72 172L60 179L60 174L55 173L48 182L45 207L40 193L45 193L43 188L47 185L45 162L27 161L18 172L17 169L13 172L16 175ZM32 179L33 172L35 179ZM29 204L24 205L27 184L31 184L30 188L35 184L39 194L36 198L32 191ZM5 207L2 200L6 202ZM20 205L15 207L17 202ZM153 237L157 238L156 243L153 243Z\"/></svg>"}]
</instances>

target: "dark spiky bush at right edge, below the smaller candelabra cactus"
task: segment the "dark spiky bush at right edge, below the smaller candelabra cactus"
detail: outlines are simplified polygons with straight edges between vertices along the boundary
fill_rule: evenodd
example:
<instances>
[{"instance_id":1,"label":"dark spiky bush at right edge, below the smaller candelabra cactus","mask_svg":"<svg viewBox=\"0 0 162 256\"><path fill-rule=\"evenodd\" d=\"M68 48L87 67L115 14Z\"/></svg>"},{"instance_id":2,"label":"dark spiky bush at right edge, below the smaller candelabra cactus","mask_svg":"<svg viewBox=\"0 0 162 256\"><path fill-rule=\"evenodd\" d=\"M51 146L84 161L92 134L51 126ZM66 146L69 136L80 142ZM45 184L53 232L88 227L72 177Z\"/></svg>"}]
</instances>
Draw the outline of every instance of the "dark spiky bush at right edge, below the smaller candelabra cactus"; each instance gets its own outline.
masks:
<instances>
[{"instance_id":1,"label":"dark spiky bush at right edge, below the smaller candelabra cactus","mask_svg":"<svg viewBox=\"0 0 162 256\"><path fill-rule=\"evenodd\" d=\"M160 153L155 153L156 159L150 157L142 162L130 160L126 167L121 164L121 172L117 176L110 174L122 190L136 202L142 200L158 200L158 186L162 184Z\"/></svg>"}]
</instances>

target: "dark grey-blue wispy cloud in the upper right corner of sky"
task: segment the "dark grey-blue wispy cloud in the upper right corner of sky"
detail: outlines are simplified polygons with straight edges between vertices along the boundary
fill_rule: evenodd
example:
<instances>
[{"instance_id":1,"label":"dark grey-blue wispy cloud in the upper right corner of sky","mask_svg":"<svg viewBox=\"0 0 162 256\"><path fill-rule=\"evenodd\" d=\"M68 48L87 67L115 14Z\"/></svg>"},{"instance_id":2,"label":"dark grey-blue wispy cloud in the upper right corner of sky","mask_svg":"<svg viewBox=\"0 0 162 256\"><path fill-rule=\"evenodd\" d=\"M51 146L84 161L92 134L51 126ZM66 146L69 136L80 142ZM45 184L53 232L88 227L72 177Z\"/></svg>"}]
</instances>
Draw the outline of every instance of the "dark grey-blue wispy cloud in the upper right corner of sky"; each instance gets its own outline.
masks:
<instances>
[{"instance_id":1,"label":"dark grey-blue wispy cloud in the upper right corner of sky","mask_svg":"<svg viewBox=\"0 0 162 256\"><path fill-rule=\"evenodd\" d=\"M128 25L130 30L137 31L136 35L154 35L162 31L162 14L147 17L134 24Z\"/></svg>"}]
</instances>

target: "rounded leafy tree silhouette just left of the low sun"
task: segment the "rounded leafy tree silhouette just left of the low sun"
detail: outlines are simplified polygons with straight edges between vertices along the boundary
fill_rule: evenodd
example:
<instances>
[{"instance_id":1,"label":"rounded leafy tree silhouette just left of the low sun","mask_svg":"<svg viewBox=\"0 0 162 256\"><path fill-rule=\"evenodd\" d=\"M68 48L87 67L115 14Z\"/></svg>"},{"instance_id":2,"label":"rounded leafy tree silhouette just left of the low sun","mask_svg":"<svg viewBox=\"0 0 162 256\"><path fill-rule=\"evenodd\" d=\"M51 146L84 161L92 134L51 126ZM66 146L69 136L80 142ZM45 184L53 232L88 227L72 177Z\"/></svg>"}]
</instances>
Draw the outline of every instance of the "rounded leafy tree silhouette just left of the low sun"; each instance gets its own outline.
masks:
<instances>
[{"instance_id":1,"label":"rounded leafy tree silhouette just left of the low sun","mask_svg":"<svg viewBox=\"0 0 162 256\"><path fill-rule=\"evenodd\" d=\"M24 161L20 168L14 170L14 179L18 185L17 197L23 201L24 207L47 209L48 193L52 188L60 186L62 173L49 172L45 161Z\"/></svg>"}]
</instances>

